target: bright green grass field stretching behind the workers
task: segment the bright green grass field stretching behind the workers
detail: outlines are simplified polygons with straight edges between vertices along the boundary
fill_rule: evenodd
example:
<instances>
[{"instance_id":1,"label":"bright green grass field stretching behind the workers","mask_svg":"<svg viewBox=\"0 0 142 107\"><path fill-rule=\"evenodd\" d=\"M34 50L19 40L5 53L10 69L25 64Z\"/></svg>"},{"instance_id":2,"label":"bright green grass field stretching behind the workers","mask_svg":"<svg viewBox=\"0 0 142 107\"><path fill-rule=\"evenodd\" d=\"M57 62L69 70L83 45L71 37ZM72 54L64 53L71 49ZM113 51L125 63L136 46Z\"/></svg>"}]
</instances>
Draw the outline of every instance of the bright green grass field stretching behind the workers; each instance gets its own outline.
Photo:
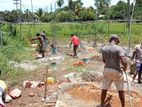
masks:
<instances>
[{"instance_id":1,"label":"bright green grass field stretching behind the workers","mask_svg":"<svg viewBox=\"0 0 142 107\"><path fill-rule=\"evenodd\" d=\"M54 24L54 25L53 25ZM19 26L17 26L19 29ZM140 23L132 24L131 43L141 42L142 26ZM60 38L69 38L71 33L76 34L81 39L96 39L97 41L108 40L110 34L120 36L122 43L127 44L128 30L126 23L108 23L106 22L86 22L86 23L39 23L22 25L22 37L24 40L34 37L37 32L46 31L49 37L55 36L57 40ZM98 37L97 35L100 35Z\"/></svg>"}]
</instances>

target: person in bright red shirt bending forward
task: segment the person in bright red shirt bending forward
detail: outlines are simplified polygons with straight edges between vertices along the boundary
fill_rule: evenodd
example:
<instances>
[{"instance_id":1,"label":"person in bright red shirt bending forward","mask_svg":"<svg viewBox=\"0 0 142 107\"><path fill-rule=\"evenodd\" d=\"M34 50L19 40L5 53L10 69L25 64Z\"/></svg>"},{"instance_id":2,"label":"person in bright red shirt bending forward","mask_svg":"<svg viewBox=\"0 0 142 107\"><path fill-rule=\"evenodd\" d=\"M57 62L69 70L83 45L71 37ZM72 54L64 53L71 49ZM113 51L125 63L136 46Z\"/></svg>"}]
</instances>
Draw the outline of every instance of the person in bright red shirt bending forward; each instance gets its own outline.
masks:
<instances>
[{"instance_id":1,"label":"person in bright red shirt bending forward","mask_svg":"<svg viewBox=\"0 0 142 107\"><path fill-rule=\"evenodd\" d=\"M74 53L73 57L77 58L77 49L78 49L78 46L79 46L79 39L74 34L71 34L70 47L71 47L72 44L73 44L73 53Z\"/></svg>"}]
</instances>

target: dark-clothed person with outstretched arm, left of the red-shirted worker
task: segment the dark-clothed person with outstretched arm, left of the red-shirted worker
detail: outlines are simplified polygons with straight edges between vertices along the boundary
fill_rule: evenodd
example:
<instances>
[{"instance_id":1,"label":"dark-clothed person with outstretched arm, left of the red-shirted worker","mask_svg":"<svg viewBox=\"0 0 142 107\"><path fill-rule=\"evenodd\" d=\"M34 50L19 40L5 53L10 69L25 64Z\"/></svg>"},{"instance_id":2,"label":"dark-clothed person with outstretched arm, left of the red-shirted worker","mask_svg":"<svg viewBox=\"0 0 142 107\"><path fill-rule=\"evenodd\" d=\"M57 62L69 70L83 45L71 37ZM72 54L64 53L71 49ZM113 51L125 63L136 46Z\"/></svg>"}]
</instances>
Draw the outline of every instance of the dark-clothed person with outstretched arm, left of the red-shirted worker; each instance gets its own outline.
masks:
<instances>
[{"instance_id":1,"label":"dark-clothed person with outstretched arm, left of the red-shirted worker","mask_svg":"<svg viewBox=\"0 0 142 107\"><path fill-rule=\"evenodd\" d=\"M44 39L43 37L37 33L36 34L36 37L31 39L32 41L33 40L38 40L39 41L39 44L38 44L38 47L37 47L37 51L39 52L39 54L42 54L42 58L45 57L45 51L46 51L46 47L45 47L45 42L44 42Z\"/></svg>"}]
</instances>

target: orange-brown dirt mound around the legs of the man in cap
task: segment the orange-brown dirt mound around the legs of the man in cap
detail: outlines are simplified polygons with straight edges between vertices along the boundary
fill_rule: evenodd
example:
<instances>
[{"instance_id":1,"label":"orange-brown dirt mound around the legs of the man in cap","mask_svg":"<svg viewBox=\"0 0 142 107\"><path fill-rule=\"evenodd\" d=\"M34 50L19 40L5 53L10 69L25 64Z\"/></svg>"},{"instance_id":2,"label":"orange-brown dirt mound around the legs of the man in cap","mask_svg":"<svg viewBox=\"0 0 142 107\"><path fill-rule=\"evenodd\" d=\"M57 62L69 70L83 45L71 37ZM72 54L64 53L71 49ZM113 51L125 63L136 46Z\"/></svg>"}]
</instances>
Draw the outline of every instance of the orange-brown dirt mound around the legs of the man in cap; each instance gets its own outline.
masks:
<instances>
[{"instance_id":1,"label":"orange-brown dirt mound around the legs of the man in cap","mask_svg":"<svg viewBox=\"0 0 142 107\"><path fill-rule=\"evenodd\" d=\"M77 84L66 90L75 99L83 100L85 102L100 102L101 89L93 84ZM129 107L128 92L125 92L126 107ZM133 107L139 107L140 96L136 92L131 92ZM112 107L120 107L120 101L117 91L108 91L106 104Z\"/></svg>"}]
</instances>

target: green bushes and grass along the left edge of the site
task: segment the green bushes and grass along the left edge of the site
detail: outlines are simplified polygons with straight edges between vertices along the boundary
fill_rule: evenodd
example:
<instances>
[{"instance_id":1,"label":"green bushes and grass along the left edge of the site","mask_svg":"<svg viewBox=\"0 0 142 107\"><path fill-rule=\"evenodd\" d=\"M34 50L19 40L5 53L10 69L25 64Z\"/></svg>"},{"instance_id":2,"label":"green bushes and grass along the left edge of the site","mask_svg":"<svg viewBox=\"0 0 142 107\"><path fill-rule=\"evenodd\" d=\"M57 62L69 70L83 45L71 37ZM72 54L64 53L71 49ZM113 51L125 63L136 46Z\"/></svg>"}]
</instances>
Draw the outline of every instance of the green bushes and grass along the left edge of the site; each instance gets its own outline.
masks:
<instances>
[{"instance_id":1,"label":"green bushes and grass along the left edge of the site","mask_svg":"<svg viewBox=\"0 0 142 107\"><path fill-rule=\"evenodd\" d=\"M19 25L18 25L19 26ZM2 39L3 45L0 47L0 71L1 75L4 78L5 76L9 76L9 79L13 80L12 78L18 74L19 69L13 69L10 62L20 62L23 59L30 59L32 57L31 52L25 51L24 48L24 41L20 41L20 37L17 36L17 25L12 24L2 24L1 25L1 32L0 35ZM11 73L12 72L12 73ZM15 73L16 72L16 73ZM12 75L9 75L12 74ZM11 77L12 76L12 77Z\"/></svg>"}]
</instances>

